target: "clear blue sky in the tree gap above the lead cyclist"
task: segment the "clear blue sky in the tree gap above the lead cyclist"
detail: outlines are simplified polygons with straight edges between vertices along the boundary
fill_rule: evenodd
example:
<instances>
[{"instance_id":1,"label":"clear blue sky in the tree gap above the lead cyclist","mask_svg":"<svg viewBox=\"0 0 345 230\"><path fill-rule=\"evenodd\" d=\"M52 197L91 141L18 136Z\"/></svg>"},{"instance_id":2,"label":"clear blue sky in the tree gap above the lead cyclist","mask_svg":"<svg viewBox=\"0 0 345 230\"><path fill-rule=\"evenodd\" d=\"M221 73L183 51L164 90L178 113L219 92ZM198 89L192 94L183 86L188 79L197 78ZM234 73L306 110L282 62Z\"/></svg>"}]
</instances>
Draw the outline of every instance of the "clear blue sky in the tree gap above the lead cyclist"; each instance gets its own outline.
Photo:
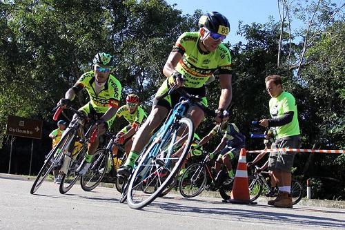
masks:
<instances>
[{"instance_id":1,"label":"clear blue sky in the tree gap above the lead cyclist","mask_svg":"<svg viewBox=\"0 0 345 230\"><path fill-rule=\"evenodd\" d=\"M193 15L194 11L201 9L203 12L218 11L225 15L230 22L230 35L226 40L231 44L243 41L236 35L238 30L238 21L244 21L244 24L266 23L271 15L275 21L279 21L279 12L277 1L275 0L166 0L167 3L176 3L175 8L182 10L184 15Z\"/></svg>"}]
</instances>

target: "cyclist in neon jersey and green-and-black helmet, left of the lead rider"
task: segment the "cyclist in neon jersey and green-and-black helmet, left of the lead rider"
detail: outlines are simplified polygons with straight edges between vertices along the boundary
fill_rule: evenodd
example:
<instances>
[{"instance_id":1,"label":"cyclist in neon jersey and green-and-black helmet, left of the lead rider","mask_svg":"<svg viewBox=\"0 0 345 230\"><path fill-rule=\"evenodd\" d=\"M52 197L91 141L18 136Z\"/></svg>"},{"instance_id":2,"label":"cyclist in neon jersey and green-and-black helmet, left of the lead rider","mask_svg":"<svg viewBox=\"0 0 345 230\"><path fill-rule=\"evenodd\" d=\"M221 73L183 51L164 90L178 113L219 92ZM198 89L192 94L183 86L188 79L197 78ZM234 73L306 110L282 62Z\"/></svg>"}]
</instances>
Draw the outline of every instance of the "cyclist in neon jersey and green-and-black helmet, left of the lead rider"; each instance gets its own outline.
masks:
<instances>
[{"instance_id":1,"label":"cyclist in neon jersey and green-and-black helmet, left of the lead rider","mask_svg":"<svg viewBox=\"0 0 345 230\"><path fill-rule=\"evenodd\" d=\"M119 108L122 86L119 80L110 74L114 65L115 60L112 55L104 52L97 53L93 59L93 70L81 75L77 83L66 92L65 98L59 102L59 106L66 108L66 105L75 98L75 95L85 88L90 96L90 102L79 108L79 111L89 116L97 115L98 117L98 121L90 133L98 126L98 134L102 135L107 126L111 126L117 108ZM90 167L92 155L99 145L99 135L95 142L89 144L88 153L77 169L77 173L80 175L85 174Z\"/></svg>"}]
</instances>

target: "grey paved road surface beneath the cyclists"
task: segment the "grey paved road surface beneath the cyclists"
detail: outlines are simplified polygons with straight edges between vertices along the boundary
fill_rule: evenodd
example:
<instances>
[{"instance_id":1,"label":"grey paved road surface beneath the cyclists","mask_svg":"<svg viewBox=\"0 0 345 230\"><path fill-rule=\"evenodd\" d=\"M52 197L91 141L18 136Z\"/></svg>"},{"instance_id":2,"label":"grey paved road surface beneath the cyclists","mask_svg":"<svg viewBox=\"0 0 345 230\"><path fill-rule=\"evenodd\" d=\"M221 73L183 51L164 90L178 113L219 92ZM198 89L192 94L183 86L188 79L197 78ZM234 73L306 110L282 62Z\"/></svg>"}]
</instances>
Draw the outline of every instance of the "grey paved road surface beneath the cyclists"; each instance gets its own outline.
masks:
<instances>
[{"instance_id":1,"label":"grey paved road surface beneath the cyclists","mask_svg":"<svg viewBox=\"0 0 345 230\"><path fill-rule=\"evenodd\" d=\"M31 195L31 186L32 180L0 178L0 229L345 229L345 209L278 209L175 193L133 210L112 188L85 192L76 184L61 195L56 184L44 182Z\"/></svg>"}]
</instances>

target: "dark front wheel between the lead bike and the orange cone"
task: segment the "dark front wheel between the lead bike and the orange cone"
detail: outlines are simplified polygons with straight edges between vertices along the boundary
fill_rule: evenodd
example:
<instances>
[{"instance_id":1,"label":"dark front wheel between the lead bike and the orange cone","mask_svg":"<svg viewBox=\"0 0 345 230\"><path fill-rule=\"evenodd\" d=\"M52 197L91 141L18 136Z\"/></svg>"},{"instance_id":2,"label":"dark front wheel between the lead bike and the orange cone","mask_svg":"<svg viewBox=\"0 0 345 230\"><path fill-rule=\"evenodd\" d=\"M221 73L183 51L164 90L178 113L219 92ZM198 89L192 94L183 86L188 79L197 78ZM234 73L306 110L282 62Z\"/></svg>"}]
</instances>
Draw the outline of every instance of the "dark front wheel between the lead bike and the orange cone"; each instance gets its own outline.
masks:
<instances>
[{"instance_id":1,"label":"dark front wheel between the lead bike and the orange cone","mask_svg":"<svg viewBox=\"0 0 345 230\"><path fill-rule=\"evenodd\" d=\"M182 174L179 181L179 192L184 198L193 198L204 191L206 180L207 174L204 164L192 164Z\"/></svg>"}]
</instances>

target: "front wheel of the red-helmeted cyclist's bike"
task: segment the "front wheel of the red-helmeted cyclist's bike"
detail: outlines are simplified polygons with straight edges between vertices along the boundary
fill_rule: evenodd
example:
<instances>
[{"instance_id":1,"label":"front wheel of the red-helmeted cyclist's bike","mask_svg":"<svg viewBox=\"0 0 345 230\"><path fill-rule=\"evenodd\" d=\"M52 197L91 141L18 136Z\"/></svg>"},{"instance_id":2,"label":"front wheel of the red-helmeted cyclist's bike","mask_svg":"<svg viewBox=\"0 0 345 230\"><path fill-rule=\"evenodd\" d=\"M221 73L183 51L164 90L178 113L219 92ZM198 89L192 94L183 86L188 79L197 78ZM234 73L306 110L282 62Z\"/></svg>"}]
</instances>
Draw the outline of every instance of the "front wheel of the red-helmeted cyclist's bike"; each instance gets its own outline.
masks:
<instances>
[{"instance_id":1,"label":"front wheel of the red-helmeted cyclist's bike","mask_svg":"<svg viewBox=\"0 0 345 230\"><path fill-rule=\"evenodd\" d=\"M106 148L99 148L95 151L90 169L80 177L80 185L83 191L92 191L99 185L106 174L108 157L109 153ZM103 171L101 171L102 169Z\"/></svg>"}]
</instances>

